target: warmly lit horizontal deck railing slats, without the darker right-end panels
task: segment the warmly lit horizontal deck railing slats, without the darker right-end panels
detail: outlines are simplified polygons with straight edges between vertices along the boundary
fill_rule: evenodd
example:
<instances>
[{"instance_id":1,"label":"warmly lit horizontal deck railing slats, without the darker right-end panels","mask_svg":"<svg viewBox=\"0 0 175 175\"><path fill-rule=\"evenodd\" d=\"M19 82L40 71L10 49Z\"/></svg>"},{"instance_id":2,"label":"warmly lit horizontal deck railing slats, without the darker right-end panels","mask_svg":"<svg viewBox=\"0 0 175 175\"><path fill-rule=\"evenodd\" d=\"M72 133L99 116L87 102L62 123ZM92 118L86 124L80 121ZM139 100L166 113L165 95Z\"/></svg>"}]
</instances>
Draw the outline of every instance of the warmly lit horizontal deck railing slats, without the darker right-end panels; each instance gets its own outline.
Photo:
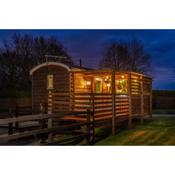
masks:
<instances>
[{"instance_id":1,"label":"warmly lit horizontal deck railing slats, without the darker right-end panels","mask_svg":"<svg viewBox=\"0 0 175 175\"><path fill-rule=\"evenodd\" d=\"M112 118L112 94L98 93L53 93L53 112L87 111L94 112L95 120ZM129 98L115 95L116 117L129 117Z\"/></svg>"}]
</instances>

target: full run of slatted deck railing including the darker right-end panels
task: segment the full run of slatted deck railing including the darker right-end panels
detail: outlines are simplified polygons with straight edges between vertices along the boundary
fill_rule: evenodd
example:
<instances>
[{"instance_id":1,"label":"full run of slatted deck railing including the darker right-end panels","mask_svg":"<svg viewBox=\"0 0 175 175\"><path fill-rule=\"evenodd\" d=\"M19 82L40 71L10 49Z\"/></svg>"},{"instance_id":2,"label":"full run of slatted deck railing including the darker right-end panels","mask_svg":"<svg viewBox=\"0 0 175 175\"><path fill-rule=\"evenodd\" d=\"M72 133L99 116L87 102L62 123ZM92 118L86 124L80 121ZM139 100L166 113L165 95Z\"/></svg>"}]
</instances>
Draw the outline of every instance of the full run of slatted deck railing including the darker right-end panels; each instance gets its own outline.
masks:
<instances>
[{"instance_id":1,"label":"full run of slatted deck railing including the darker right-end panels","mask_svg":"<svg viewBox=\"0 0 175 175\"><path fill-rule=\"evenodd\" d=\"M130 100L131 99L131 100ZM69 93L53 92L52 112L59 111L86 111L94 112L95 120L112 118L113 108L111 93ZM115 94L115 117L118 119L128 119L150 114L150 95L133 94L131 96ZM142 109L143 108L143 109ZM83 117L77 117L83 120Z\"/></svg>"}]
</instances>

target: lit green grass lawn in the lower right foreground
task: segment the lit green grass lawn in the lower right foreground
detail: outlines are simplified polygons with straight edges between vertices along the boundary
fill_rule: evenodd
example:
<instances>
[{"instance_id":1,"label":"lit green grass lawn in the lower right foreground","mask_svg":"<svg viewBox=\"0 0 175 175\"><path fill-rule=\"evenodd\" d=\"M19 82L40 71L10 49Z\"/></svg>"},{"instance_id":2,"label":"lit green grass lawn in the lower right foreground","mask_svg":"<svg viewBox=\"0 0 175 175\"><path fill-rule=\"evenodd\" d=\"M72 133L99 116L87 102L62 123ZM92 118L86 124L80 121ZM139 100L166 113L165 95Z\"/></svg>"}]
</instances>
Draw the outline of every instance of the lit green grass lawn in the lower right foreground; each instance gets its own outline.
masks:
<instances>
[{"instance_id":1,"label":"lit green grass lawn in the lower right foreground","mask_svg":"<svg viewBox=\"0 0 175 175\"><path fill-rule=\"evenodd\" d=\"M108 136L96 145L175 145L175 117L155 117Z\"/></svg>"}]
</instances>

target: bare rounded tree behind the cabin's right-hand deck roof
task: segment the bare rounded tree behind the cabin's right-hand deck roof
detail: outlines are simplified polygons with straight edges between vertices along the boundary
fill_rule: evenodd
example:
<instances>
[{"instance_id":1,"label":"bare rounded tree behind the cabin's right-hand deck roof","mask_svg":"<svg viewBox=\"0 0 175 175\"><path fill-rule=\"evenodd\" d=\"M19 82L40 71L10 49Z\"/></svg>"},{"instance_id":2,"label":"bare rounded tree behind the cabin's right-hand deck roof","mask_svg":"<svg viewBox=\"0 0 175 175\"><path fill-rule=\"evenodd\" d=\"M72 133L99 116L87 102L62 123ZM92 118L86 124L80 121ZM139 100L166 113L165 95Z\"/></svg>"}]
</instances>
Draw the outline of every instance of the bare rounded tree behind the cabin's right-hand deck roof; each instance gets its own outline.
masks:
<instances>
[{"instance_id":1,"label":"bare rounded tree behind the cabin's right-hand deck roof","mask_svg":"<svg viewBox=\"0 0 175 175\"><path fill-rule=\"evenodd\" d=\"M150 56L144 50L141 41L112 43L100 60L100 67L117 71L150 72Z\"/></svg>"}]
</instances>

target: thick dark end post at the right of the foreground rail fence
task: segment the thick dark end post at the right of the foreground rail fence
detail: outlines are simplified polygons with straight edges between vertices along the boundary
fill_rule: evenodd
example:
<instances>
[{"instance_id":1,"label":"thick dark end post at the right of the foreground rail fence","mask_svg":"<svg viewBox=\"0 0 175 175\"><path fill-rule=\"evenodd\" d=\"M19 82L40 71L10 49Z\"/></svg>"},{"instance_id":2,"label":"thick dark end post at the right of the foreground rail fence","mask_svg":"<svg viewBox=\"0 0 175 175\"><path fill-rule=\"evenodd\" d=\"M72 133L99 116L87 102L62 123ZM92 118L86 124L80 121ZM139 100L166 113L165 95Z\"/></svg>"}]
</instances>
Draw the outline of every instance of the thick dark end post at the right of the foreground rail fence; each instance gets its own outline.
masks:
<instances>
[{"instance_id":1,"label":"thick dark end post at the right of the foreground rail fence","mask_svg":"<svg viewBox=\"0 0 175 175\"><path fill-rule=\"evenodd\" d=\"M94 112L87 109L87 144L92 145L95 138Z\"/></svg>"}]
</instances>

